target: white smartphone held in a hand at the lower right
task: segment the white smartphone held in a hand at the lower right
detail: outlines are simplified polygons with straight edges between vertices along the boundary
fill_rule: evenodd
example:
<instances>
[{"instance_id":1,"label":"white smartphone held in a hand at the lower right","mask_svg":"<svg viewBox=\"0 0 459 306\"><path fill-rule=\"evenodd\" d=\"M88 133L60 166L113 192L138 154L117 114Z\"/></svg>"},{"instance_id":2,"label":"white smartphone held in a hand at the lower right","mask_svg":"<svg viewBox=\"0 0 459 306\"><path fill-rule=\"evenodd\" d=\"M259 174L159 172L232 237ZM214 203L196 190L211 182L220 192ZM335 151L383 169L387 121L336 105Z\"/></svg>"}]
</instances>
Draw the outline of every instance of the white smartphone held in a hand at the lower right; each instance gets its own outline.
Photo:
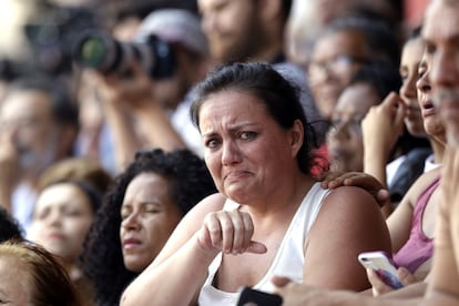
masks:
<instances>
[{"instance_id":1,"label":"white smartphone held in a hand at the lower right","mask_svg":"<svg viewBox=\"0 0 459 306\"><path fill-rule=\"evenodd\" d=\"M364 267L375 271L379 278L394 289L404 286L397 276L397 268L391 261L391 256L386 252L377 251L360 253L358 255L358 261Z\"/></svg>"}]
</instances>

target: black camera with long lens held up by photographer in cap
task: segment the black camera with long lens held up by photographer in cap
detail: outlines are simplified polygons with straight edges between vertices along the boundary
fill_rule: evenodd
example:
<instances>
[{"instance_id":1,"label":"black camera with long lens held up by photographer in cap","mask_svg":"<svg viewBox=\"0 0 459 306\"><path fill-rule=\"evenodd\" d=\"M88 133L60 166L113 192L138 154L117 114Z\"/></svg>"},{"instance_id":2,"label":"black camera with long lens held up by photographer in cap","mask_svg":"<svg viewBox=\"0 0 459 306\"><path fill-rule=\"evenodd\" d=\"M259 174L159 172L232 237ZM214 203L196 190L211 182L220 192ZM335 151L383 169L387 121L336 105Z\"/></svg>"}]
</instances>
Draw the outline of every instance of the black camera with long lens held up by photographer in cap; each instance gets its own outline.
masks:
<instances>
[{"instance_id":1,"label":"black camera with long lens held up by photographer in cap","mask_svg":"<svg viewBox=\"0 0 459 306\"><path fill-rule=\"evenodd\" d=\"M155 80L171 78L177 65L172 47L156 35L128 43L98 30L88 31L76 40L72 57L76 64L102 73L129 73L136 62Z\"/></svg>"}]
</instances>

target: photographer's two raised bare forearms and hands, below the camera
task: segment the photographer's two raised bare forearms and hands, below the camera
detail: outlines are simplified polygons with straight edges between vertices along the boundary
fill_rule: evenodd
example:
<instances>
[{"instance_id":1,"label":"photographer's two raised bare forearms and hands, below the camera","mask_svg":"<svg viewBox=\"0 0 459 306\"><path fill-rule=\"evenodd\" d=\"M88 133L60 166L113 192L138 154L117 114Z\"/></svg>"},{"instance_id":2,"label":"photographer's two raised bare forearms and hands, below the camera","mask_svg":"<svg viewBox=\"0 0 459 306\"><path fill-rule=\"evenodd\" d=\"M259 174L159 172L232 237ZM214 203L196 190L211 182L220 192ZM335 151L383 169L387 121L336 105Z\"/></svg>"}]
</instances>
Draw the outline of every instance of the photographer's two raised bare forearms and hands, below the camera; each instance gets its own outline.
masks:
<instances>
[{"instance_id":1,"label":"photographer's two raised bare forearms and hands, below the camera","mask_svg":"<svg viewBox=\"0 0 459 306\"><path fill-rule=\"evenodd\" d=\"M119 169L145 146L165 151L186 147L172 126L167 110L155 101L152 90L156 81L140 67L132 65L131 79L98 73L95 80L113 132Z\"/></svg>"}]
</instances>

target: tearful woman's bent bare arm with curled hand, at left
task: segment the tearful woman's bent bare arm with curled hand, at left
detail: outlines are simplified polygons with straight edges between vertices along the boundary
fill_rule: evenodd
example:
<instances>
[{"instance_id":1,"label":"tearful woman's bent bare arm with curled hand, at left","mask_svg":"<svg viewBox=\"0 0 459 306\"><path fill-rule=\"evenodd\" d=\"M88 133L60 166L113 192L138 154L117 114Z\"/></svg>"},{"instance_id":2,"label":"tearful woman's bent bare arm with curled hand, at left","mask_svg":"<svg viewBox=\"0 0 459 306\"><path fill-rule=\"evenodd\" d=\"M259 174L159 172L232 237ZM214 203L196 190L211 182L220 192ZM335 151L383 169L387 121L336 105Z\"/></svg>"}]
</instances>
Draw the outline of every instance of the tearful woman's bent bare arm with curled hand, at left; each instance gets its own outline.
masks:
<instances>
[{"instance_id":1,"label":"tearful woman's bent bare arm with curled hand, at left","mask_svg":"<svg viewBox=\"0 0 459 306\"><path fill-rule=\"evenodd\" d=\"M195 305L207 268L220 252L265 253L253 242L247 213L222 211L225 198L211 195L178 224L154 262L126 288L121 305Z\"/></svg>"}]
</instances>

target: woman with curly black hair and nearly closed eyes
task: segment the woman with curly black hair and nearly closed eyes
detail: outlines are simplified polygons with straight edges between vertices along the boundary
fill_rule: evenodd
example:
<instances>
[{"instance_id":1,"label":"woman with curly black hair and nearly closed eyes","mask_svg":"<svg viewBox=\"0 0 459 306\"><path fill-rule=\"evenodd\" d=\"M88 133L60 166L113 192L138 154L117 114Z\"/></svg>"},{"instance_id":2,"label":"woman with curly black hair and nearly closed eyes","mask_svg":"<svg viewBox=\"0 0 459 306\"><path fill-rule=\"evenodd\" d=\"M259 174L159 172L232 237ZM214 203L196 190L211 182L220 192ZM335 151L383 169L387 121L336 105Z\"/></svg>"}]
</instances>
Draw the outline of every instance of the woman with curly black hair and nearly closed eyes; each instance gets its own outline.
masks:
<instances>
[{"instance_id":1,"label":"woman with curly black hair and nearly closed eyes","mask_svg":"<svg viewBox=\"0 0 459 306\"><path fill-rule=\"evenodd\" d=\"M82 259L96 304L119 305L182 216L215 191L204 161L191 151L137 152L109 187L86 241Z\"/></svg>"}]
</instances>

